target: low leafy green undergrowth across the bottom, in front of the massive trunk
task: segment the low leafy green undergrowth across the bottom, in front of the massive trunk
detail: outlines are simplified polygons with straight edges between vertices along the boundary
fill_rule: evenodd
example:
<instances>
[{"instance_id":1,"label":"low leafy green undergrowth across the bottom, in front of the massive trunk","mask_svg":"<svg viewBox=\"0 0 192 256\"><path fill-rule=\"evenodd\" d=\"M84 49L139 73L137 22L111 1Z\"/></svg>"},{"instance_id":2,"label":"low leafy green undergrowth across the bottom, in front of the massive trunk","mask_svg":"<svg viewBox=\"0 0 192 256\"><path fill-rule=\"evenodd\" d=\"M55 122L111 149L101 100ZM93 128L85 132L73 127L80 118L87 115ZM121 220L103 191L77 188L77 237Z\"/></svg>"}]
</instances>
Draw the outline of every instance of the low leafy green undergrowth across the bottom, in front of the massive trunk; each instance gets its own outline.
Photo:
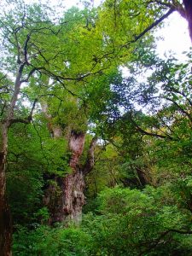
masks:
<instances>
[{"instance_id":1,"label":"low leafy green undergrowth across the bottom, in front of the massive trunk","mask_svg":"<svg viewBox=\"0 0 192 256\"><path fill-rule=\"evenodd\" d=\"M105 189L97 214L80 227L20 229L15 255L176 255L192 252L190 214L174 205L169 187ZM186 231L186 235L179 230ZM27 237L27 239L26 239Z\"/></svg>"}]
</instances>

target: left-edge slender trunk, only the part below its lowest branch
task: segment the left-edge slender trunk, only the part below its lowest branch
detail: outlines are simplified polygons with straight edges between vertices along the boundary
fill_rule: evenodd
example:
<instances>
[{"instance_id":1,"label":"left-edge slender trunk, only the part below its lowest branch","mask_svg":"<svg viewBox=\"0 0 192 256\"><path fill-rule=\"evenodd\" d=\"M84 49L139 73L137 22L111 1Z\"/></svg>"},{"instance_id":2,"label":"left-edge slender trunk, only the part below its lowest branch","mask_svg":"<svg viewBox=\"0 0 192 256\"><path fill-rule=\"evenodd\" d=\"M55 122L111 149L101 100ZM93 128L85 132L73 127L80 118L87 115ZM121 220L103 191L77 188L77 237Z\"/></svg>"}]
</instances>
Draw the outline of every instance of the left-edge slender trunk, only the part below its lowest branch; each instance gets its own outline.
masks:
<instances>
[{"instance_id":1,"label":"left-edge slender trunk, only the part below its lowest branch","mask_svg":"<svg viewBox=\"0 0 192 256\"><path fill-rule=\"evenodd\" d=\"M7 158L8 129L6 125L1 127L0 148L0 256L11 255L12 225L9 207L6 199L5 164Z\"/></svg>"}]
</instances>

